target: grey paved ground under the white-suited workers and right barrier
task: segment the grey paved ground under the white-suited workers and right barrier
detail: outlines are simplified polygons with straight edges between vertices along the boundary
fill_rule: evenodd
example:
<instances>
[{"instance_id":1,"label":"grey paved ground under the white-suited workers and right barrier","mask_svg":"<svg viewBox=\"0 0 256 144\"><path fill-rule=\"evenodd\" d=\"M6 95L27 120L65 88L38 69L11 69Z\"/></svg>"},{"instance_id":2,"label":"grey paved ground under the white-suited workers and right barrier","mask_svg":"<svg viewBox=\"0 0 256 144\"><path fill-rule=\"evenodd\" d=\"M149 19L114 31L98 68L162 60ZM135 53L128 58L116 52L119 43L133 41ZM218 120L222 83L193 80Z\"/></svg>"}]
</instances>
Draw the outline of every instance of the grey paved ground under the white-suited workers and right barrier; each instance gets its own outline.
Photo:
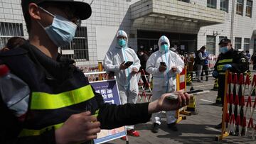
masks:
<instances>
[{"instance_id":1,"label":"grey paved ground under the white-suited workers and right barrier","mask_svg":"<svg viewBox=\"0 0 256 144\"><path fill-rule=\"evenodd\" d=\"M193 82L195 89L210 90L213 88L213 78L203 83ZM188 87L190 89L190 87ZM159 133L151 133L151 122L138 124L135 128L141 133L139 138L129 136L129 143L141 144L169 144L169 143L256 143L256 141L238 136L228 136L224 140L215 141L215 136L220 135L220 130L214 126L220 123L221 107L215 106L216 91L210 91L196 97L198 115L186 116L186 120L178 123L178 132L166 128L166 119L163 119ZM256 115L256 114L255 114ZM112 140L107 144L125 143L124 140Z\"/></svg>"}]
</instances>

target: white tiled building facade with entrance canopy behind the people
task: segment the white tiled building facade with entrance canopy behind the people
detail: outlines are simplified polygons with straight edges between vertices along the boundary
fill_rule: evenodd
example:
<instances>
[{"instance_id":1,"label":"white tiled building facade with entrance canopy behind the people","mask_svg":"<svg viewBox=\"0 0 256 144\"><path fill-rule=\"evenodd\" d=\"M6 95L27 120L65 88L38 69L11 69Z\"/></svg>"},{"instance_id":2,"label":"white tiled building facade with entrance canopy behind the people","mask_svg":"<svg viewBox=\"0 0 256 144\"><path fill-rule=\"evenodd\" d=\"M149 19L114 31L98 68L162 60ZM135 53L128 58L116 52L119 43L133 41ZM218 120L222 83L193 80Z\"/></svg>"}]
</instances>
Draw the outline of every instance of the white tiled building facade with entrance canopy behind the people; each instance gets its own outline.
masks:
<instances>
[{"instance_id":1,"label":"white tiled building facade with entrance canopy behind the people","mask_svg":"<svg viewBox=\"0 0 256 144\"><path fill-rule=\"evenodd\" d=\"M256 50L256 1L252 0L85 0L92 16L82 21L75 40L61 48L77 65L95 66L116 45L122 29L128 45L138 50L157 49L161 35L177 48L194 52L206 45L218 55L221 38L232 40L240 51ZM21 0L0 0L0 46L12 36L28 38Z\"/></svg>"}]
</instances>

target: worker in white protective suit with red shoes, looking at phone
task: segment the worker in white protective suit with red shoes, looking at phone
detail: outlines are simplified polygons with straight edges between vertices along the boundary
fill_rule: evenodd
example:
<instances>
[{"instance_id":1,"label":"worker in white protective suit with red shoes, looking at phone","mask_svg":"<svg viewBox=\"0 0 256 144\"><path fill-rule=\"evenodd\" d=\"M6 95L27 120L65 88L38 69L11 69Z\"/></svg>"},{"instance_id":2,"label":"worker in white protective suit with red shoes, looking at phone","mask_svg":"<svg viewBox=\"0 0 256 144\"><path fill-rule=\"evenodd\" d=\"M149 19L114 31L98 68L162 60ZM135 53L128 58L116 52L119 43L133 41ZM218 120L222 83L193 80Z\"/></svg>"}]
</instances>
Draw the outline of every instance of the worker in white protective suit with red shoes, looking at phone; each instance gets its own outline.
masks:
<instances>
[{"instance_id":1,"label":"worker in white protective suit with red shoes, looking at phone","mask_svg":"<svg viewBox=\"0 0 256 144\"><path fill-rule=\"evenodd\" d=\"M110 48L104 58L103 67L108 72L114 72L117 77L119 95L122 104L135 104L139 94L137 82L137 72L139 70L140 61L136 52L127 47L128 38L124 31L117 32L117 45ZM133 62L132 65L126 65ZM134 126L127 126L127 134L139 136L138 131L134 131ZM123 137L122 139L125 139Z\"/></svg>"}]
</instances>

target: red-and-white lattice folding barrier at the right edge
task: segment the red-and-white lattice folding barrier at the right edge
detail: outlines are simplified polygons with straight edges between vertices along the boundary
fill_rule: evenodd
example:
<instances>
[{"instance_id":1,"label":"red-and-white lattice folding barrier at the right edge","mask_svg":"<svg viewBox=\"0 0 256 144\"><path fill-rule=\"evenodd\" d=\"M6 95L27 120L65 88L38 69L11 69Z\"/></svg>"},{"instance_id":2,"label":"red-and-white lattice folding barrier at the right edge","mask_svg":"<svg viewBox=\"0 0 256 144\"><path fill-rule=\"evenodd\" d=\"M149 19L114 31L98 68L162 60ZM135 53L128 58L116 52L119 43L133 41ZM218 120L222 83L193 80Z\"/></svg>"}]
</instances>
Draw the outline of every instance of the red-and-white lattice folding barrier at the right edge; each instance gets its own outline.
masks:
<instances>
[{"instance_id":1,"label":"red-and-white lattice folding barrier at the right edge","mask_svg":"<svg viewBox=\"0 0 256 144\"><path fill-rule=\"evenodd\" d=\"M243 74L240 74L238 80L238 74L229 72L228 75L226 75L226 79L225 106L223 110L223 116L225 116L225 118L223 118L224 125L220 139L227 136L226 132L242 135L242 129L244 129L244 134L247 138L255 139L256 125L253 121L253 114L256 108L256 98L255 101L252 101L251 95L253 89L256 87L256 74L252 82L250 82L249 74L246 75L245 80ZM247 101L245 101L246 88L248 90ZM239 93L240 90L241 93ZM235 96L233 92L235 92ZM239 94L241 95L239 96ZM235 111L238 113L237 116L235 116ZM240 117L241 111L243 112L242 118ZM249 120L248 123L247 120ZM228 128L226 128L227 123ZM235 133L237 130L238 133Z\"/></svg>"}]
</instances>

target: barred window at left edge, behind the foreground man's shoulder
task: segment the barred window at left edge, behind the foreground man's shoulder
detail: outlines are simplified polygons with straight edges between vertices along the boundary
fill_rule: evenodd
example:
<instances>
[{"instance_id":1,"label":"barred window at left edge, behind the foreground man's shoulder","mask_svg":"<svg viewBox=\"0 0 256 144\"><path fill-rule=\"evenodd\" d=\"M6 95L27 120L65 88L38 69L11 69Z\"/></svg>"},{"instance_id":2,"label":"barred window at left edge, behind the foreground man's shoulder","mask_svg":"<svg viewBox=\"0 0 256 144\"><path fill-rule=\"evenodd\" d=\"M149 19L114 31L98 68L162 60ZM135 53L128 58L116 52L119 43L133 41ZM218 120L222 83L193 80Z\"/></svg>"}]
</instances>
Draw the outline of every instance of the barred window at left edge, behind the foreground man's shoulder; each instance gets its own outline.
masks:
<instances>
[{"instance_id":1,"label":"barred window at left edge, behind the foreground man's shoulder","mask_svg":"<svg viewBox=\"0 0 256 144\"><path fill-rule=\"evenodd\" d=\"M4 48L9 38L14 36L24 36L22 23L0 22L0 49Z\"/></svg>"}]
</instances>

